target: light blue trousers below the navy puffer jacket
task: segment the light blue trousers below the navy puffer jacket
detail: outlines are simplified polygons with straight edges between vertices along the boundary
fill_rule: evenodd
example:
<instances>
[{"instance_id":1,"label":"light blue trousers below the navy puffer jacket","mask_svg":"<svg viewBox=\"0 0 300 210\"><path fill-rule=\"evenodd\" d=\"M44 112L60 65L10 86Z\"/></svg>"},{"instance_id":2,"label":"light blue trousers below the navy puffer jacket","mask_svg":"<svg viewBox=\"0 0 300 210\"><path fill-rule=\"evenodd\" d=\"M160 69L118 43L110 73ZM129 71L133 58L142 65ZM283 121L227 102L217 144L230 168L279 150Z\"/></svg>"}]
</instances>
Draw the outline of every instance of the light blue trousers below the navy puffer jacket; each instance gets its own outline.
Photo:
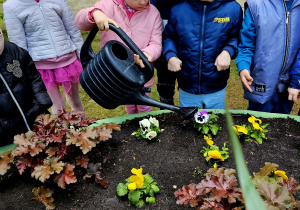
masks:
<instances>
[{"instance_id":1,"label":"light blue trousers below the navy puffer jacket","mask_svg":"<svg viewBox=\"0 0 300 210\"><path fill-rule=\"evenodd\" d=\"M179 89L179 105L181 107L198 106L203 109L224 109L225 90L210 94L192 94Z\"/></svg>"}]
</instances>

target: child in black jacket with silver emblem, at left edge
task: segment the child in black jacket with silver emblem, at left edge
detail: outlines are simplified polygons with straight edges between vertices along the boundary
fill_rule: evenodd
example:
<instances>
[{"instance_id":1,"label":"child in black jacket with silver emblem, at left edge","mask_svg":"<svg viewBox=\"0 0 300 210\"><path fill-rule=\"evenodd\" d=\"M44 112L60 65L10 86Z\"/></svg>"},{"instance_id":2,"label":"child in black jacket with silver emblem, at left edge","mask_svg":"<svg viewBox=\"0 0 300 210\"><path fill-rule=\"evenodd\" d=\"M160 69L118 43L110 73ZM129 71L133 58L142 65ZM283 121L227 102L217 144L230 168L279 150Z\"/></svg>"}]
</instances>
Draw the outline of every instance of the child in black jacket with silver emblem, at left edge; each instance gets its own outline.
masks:
<instances>
[{"instance_id":1,"label":"child in black jacket with silver emblem, at left edge","mask_svg":"<svg viewBox=\"0 0 300 210\"><path fill-rule=\"evenodd\" d=\"M0 147L32 129L52 103L28 52L4 41L0 30Z\"/></svg>"}]
</instances>

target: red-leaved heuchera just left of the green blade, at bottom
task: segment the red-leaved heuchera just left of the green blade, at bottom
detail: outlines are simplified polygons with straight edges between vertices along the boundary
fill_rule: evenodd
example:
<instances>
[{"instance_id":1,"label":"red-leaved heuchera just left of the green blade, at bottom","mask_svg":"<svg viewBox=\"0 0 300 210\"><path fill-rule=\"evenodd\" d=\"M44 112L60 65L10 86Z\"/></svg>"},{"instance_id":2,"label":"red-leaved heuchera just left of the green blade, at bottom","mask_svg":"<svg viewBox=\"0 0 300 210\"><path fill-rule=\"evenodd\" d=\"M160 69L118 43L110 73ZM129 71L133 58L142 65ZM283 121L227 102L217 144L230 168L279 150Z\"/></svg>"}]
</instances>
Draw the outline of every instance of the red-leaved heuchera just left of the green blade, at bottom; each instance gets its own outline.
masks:
<instances>
[{"instance_id":1,"label":"red-leaved heuchera just left of the green blade, at bottom","mask_svg":"<svg viewBox=\"0 0 300 210\"><path fill-rule=\"evenodd\" d=\"M196 209L242 209L244 199L237 188L234 169L210 168L199 184L189 184L177 190L177 204L190 204Z\"/></svg>"}]
</instances>

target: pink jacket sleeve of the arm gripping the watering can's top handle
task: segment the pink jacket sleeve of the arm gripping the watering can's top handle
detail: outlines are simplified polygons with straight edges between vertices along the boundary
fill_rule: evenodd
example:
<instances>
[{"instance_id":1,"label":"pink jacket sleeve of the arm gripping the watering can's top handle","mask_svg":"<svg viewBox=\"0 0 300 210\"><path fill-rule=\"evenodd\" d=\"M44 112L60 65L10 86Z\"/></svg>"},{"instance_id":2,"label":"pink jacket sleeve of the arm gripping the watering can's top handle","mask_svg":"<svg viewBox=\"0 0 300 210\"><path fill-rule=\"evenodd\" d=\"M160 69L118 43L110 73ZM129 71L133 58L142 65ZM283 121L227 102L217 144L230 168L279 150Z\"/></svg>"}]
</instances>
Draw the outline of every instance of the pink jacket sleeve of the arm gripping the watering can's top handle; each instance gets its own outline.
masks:
<instances>
[{"instance_id":1,"label":"pink jacket sleeve of the arm gripping the watering can's top handle","mask_svg":"<svg viewBox=\"0 0 300 210\"><path fill-rule=\"evenodd\" d=\"M95 22L89 19L89 15L94 9L100 9L106 16L111 17L110 11L112 11L112 3L112 0L101 0L92 7L81 9L75 16L77 27L84 31L90 31L93 28Z\"/></svg>"}]
</instances>

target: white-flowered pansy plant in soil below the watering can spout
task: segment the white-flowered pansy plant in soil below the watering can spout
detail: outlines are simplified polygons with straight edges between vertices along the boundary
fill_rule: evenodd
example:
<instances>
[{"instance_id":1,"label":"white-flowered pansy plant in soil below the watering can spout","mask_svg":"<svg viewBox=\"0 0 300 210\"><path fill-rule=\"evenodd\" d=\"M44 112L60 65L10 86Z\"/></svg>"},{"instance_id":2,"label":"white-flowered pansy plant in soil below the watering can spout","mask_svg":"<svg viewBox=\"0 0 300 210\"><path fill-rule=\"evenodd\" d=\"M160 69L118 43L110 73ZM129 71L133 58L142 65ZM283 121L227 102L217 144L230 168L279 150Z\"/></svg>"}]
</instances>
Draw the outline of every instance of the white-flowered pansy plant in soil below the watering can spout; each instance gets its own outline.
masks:
<instances>
[{"instance_id":1,"label":"white-flowered pansy plant in soil below the watering can spout","mask_svg":"<svg viewBox=\"0 0 300 210\"><path fill-rule=\"evenodd\" d=\"M150 117L149 119L143 119L139 122L140 128L133 132L131 135L136 137L143 137L144 139L152 140L157 138L157 135L161 132L159 129L159 122L155 117Z\"/></svg>"}]
</instances>

